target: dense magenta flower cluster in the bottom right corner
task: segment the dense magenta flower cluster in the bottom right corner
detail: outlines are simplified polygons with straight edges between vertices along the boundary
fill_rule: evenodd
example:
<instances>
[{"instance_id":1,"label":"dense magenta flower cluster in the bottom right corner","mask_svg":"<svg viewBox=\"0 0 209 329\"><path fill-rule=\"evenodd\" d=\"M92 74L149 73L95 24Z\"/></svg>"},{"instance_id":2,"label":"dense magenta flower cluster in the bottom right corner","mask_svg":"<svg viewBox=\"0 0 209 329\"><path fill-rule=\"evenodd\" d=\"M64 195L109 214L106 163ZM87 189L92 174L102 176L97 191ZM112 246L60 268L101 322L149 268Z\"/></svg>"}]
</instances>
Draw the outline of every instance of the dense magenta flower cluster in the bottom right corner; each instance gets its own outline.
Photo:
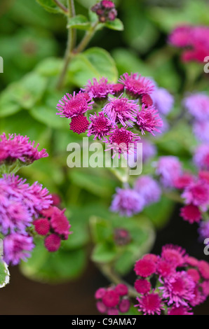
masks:
<instances>
[{"instance_id":1,"label":"dense magenta flower cluster in the bottom right corner","mask_svg":"<svg viewBox=\"0 0 209 329\"><path fill-rule=\"evenodd\" d=\"M180 246L166 245L161 255L144 255L134 270L139 294L135 307L141 314L190 315L191 307L209 295L208 262L187 255Z\"/></svg>"}]
</instances>

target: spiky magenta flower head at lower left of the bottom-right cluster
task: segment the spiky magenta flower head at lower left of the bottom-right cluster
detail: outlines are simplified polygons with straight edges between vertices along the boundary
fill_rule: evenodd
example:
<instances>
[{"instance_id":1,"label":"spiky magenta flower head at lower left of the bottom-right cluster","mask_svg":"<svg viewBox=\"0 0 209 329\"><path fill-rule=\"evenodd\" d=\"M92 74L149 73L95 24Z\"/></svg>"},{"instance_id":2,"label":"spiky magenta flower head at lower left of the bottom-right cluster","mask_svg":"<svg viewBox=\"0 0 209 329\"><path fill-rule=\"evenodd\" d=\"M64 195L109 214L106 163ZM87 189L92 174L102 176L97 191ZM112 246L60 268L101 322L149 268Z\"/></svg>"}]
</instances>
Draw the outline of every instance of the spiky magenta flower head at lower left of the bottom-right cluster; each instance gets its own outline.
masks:
<instances>
[{"instance_id":1,"label":"spiky magenta flower head at lower left of the bottom-right cluster","mask_svg":"<svg viewBox=\"0 0 209 329\"><path fill-rule=\"evenodd\" d=\"M147 295L142 295L136 299L139 304L134 306L139 307L138 311L142 311L144 315L161 314L163 302L158 293L147 293Z\"/></svg>"}]
</instances>

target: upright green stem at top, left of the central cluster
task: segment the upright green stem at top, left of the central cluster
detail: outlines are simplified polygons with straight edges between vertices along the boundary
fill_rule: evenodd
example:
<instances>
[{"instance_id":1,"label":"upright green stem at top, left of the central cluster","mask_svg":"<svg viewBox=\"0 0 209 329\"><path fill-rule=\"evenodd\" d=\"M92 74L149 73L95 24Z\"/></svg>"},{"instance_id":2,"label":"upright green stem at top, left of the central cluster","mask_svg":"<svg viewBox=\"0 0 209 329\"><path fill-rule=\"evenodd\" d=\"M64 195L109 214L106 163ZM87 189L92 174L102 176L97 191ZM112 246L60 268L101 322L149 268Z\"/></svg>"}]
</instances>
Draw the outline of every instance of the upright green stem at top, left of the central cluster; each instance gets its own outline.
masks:
<instances>
[{"instance_id":1,"label":"upright green stem at top, left of the central cluster","mask_svg":"<svg viewBox=\"0 0 209 329\"><path fill-rule=\"evenodd\" d=\"M74 0L68 0L68 19L74 17L75 9L74 9ZM67 67L69 65L70 59L72 57L72 51L74 49L74 45L76 43L76 29L72 29L69 27L68 34L67 34L67 48L65 50L65 57L64 57L64 66L60 73L60 77L58 79L57 89L62 89L62 84L65 79L65 75L67 72Z\"/></svg>"}]
</instances>

